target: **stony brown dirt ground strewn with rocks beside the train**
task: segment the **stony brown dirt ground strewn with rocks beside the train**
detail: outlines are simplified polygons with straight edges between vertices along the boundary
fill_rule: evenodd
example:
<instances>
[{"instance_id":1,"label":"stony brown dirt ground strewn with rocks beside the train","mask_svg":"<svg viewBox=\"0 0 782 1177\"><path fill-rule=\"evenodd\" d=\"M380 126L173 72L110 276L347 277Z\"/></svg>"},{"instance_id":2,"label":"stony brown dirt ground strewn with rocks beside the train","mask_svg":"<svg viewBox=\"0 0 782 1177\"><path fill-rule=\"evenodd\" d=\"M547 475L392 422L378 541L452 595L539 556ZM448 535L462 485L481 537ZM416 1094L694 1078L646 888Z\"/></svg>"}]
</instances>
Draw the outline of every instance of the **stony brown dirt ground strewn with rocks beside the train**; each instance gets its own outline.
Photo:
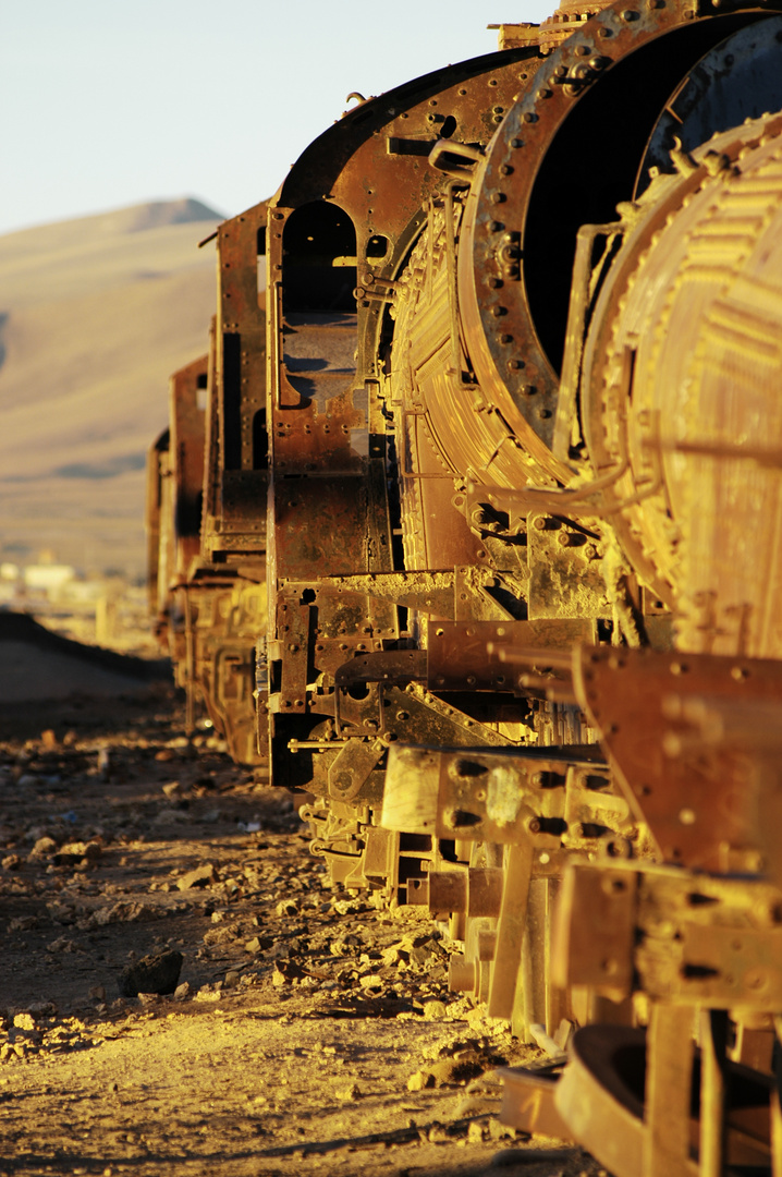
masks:
<instances>
[{"instance_id":1,"label":"stony brown dirt ground strewn with rocks beside the train","mask_svg":"<svg viewBox=\"0 0 782 1177\"><path fill-rule=\"evenodd\" d=\"M442 931L333 893L294 798L181 719L0 716L0 1173L601 1173L500 1125L495 1068L542 1056L448 992ZM176 991L120 996L163 951Z\"/></svg>"}]
</instances>

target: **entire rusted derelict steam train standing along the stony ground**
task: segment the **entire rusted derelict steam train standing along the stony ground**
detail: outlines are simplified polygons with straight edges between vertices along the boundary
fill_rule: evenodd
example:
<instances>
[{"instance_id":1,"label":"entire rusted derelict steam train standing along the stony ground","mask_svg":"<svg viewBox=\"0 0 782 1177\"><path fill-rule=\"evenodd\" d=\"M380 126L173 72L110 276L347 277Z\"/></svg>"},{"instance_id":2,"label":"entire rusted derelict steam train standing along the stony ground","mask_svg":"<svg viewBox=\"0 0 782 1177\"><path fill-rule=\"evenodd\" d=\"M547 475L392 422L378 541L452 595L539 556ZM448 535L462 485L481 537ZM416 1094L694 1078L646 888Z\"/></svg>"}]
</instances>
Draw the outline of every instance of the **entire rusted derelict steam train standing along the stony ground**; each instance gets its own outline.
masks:
<instances>
[{"instance_id":1,"label":"entire rusted derelict steam train standing along the stony ground","mask_svg":"<svg viewBox=\"0 0 782 1177\"><path fill-rule=\"evenodd\" d=\"M504 1115L621 1177L782 1177L777 12L573 0L362 100L220 228L151 461L180 680L581 1026Z\"/></svg>"}]
</instances>

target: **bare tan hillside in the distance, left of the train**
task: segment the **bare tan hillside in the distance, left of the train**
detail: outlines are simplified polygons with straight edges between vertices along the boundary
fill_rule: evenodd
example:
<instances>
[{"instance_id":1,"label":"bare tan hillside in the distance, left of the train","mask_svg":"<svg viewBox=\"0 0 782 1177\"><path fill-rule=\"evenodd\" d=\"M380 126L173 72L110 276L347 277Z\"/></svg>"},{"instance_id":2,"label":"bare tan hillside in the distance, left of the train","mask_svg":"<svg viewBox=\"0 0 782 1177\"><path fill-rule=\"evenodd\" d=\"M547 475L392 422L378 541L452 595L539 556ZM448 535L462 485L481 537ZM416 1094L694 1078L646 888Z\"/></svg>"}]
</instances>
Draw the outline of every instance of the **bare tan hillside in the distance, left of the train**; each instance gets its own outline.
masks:
<instances>
[{"instance_id":1,"label":"bare tan hillside in the distance, left of the train","mask_svg":"<svg viewBox=\"0 0 782 1177\"><path fill-rule=\"evenodd\" d=\"M0 237L0 559L143 572L143 459L203 353L223 218L192 198Z\"/></svg>"}]
</instances>

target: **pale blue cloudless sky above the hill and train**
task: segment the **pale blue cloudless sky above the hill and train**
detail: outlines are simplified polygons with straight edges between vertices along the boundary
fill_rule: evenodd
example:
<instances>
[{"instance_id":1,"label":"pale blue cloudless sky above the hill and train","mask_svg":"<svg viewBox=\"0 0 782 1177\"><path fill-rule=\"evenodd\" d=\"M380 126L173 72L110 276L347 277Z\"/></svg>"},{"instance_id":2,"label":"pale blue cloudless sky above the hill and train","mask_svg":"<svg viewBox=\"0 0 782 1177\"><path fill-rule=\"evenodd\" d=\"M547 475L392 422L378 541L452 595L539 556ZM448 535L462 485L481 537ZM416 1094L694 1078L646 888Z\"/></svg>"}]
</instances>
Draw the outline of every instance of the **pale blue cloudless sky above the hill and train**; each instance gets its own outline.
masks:
<instances>
[{"instance_id":1,"label":"pale blue cloudless sky above the hill and train","mask_svg":"<svg viewBox=\"0 0 782 1177\"><path fill-rule=\"evenodd\" d=\"M270 195L350 91L490 53L555 0L0 0L0 233Z\"/></svg>"}]
</instances>

